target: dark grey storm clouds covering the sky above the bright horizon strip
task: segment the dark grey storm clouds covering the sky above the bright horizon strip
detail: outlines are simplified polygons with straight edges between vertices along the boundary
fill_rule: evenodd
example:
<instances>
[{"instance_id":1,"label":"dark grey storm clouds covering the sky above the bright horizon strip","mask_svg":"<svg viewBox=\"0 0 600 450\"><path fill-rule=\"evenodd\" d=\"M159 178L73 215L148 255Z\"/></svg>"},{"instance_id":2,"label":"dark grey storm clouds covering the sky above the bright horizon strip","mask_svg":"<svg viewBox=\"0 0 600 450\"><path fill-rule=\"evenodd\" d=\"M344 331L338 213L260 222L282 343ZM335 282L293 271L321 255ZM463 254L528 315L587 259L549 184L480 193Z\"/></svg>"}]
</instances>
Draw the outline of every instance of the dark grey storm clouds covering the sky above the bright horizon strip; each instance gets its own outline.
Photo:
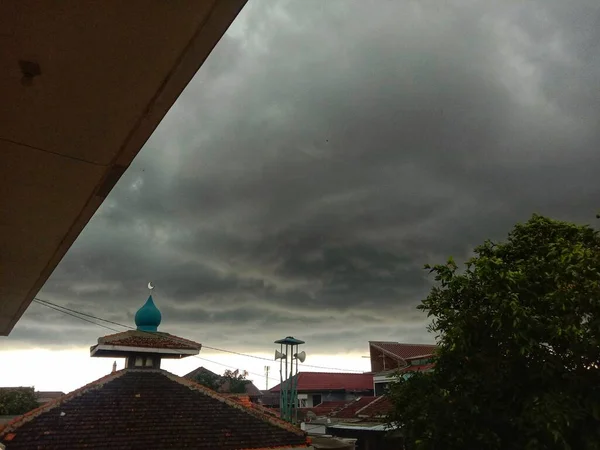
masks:
<instances>
[{"instance_id":1,"label":"dark grey storm clouds covering the sky above the bright horizon strip","mask_svg":"<svg viewBox=\"0 0 600 450\"><path fill-rule=\"evenodd\" d=\"M424 263L533 212L593 219L599 17L250 0L40 296L129 324L152 279L161 329L243 351L430 340ZM15 345L103 333L42 308Z\"/></svg>"}]
</instances>

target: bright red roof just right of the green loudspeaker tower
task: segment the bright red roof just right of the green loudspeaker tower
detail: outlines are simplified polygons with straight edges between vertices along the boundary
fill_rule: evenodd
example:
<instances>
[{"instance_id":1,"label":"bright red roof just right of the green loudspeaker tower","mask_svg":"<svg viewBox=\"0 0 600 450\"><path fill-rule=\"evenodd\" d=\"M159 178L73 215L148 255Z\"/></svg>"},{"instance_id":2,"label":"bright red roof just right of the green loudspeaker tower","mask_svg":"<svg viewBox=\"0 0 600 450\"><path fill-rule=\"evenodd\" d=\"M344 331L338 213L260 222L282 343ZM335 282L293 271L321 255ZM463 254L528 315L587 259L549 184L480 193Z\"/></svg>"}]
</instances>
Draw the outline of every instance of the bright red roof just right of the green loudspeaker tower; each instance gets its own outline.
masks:
<instances>
[{"instance_id":1,"label":"bright red roof just right of the green loudspeaker tower","mask_svg":"<svg viewBox=\"0 0 600 450\"><path fill-rule=\"evenodd\" d=\"M298 391L349 391L365 392L373 390L373 375L368 373L326 373L300 372ZM280 385L271 389L279 392Z\"/></svg>"}]
</instances>

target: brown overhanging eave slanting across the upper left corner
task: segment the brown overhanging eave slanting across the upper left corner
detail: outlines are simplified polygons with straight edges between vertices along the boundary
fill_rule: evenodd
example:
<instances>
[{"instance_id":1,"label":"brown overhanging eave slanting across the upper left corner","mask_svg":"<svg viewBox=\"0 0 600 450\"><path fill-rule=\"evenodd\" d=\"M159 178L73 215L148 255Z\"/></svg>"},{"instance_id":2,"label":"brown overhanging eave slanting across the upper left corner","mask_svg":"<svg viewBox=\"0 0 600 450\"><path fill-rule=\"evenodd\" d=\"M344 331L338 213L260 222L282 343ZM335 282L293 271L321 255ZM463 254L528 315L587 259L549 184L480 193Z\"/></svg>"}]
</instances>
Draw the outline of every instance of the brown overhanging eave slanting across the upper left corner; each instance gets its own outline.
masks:
<instances>
[{"instance_id":1,"label":"brown overhanging eave slanting across the upper left corner","mask_svg":"<svg viewBox=\"0 0 600 450\"><path fill-rule=\"evenodd\" d=\"M245 3L0 2L0 336Z\"/></svg>"}]
</instances>

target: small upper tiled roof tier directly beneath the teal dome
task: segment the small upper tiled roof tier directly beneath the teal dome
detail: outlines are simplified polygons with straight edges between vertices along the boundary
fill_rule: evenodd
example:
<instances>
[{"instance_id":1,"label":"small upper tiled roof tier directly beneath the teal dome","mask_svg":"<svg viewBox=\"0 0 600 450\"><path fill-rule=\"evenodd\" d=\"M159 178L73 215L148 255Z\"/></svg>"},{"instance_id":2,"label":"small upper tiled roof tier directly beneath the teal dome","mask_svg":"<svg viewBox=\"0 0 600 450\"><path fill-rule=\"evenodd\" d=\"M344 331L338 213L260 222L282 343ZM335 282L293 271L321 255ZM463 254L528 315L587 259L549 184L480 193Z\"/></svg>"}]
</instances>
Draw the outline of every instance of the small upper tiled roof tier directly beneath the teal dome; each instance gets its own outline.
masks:
<instances>
[{"instance_id":1,"label":"small upper tiled roof tier directly beneath the teal dome","mask_svg":"<svg viewBox=\"0 0 600 450\"><path fill-rule=\"evenodd\" d=\"M202 348L202 344L198 342L173 336L169 333L138 330L109 334L108 336L99 338L98 344L182 350L200 350Z\"/></svg>"}]
</instances>

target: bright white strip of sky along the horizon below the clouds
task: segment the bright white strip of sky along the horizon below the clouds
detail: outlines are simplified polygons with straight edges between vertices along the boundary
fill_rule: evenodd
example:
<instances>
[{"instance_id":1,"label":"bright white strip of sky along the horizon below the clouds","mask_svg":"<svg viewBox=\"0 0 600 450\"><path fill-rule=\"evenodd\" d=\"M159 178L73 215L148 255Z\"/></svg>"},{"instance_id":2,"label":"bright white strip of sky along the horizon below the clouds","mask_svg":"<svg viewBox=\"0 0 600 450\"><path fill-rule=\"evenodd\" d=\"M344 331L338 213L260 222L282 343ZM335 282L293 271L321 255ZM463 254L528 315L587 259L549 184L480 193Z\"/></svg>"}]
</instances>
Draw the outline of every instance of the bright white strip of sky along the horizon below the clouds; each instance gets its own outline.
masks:
<instances>
[{"instance_id":1,"label":"bright white strip of sky along the horizon below the clouds","mask_svg":"<svg viewBox=\"0 0 600 450\"><path fill-rule=\"evenodd\" d=\"M274 350L273 350L274 351ZM273 358L273 355L254 353L253 356ZM279 384L279 362L265 361L248 356L200 351L198 357L190 356L181 360L163 360L161 368L183 376L203 366L222 374L227 369L240 369L249 372L248 379L264 390L266 379L264 367L270 366L269 389ZM358 370L368 372L370 362L362 354L311 355L307 351L304 364L299 364L301 372L327 372L326 369L306 367L305 364L324 366L332 369ZM205 359L204 359L205 358ZM210 361L207 361L210 360ZM117 370L125 366L124 358L92 358L89 347L70 350L45 350L30 348L23 350L0 351L0 387L29 386L38 391L74 391L112 371L113 362ZM336 370L330 370L334 372Z\"/></svg>"}]
</instances>

